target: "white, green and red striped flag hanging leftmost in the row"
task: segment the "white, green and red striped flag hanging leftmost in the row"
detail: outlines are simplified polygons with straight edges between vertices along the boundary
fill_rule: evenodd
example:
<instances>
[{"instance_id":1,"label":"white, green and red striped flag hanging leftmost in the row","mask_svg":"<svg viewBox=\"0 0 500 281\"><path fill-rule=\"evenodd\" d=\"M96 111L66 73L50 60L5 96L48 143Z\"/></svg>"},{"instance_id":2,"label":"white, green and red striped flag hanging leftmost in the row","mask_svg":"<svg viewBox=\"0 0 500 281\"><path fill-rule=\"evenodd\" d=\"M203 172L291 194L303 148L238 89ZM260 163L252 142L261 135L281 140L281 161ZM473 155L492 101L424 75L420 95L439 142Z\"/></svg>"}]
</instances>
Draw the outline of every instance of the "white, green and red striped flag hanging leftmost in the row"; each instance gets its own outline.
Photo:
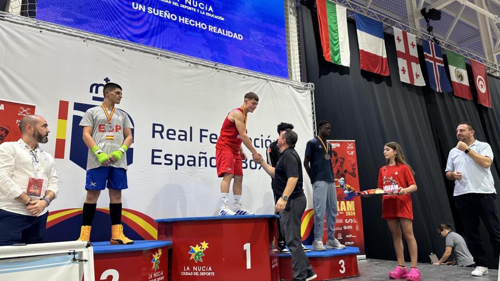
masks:
<instances>
[{"instance_id":1,"label":"white, green and red striped flag hanging leftmost in the row","mask_svg":"<svg viewBox=\"0 0 500 281\"><path fill-rule=\"evenodd\" d=\"M348 67L347 9L329 0L317 0L316 7L324 59Z\"/></svg>"}]
</instances>

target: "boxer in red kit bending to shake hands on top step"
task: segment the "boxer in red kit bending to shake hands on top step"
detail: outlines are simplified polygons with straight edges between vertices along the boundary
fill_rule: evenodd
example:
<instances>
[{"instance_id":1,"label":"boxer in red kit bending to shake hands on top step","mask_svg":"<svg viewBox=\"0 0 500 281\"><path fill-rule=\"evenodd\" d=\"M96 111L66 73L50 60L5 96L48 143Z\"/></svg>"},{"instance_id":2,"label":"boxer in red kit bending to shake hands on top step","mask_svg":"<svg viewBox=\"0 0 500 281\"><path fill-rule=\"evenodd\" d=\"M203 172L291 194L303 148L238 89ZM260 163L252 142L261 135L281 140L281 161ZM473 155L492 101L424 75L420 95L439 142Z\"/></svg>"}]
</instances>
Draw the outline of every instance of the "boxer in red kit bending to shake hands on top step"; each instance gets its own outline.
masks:
<instances>
[{"instance_id":1,"label":"boxer in red kit bending to shake hands on top step","mask_svg":"<svg viewBox=\"0 0 500 281\"><path fill-rule=\"evenodd\" d=\"M241 107L232 109L222 123L220 135L215 145L215 161L217 176L222 177L220 182L220 211L219 215L254 214L245 210L241 204L241 183L243 182L242 160L246 159L241 142L250 150L254 161L262 160L246 134L246 114L257 108L258 96L254 92L247 92ZM233 210L229 208L229 186L231 180L234 195Z\"/></svg>"}]
</instances>

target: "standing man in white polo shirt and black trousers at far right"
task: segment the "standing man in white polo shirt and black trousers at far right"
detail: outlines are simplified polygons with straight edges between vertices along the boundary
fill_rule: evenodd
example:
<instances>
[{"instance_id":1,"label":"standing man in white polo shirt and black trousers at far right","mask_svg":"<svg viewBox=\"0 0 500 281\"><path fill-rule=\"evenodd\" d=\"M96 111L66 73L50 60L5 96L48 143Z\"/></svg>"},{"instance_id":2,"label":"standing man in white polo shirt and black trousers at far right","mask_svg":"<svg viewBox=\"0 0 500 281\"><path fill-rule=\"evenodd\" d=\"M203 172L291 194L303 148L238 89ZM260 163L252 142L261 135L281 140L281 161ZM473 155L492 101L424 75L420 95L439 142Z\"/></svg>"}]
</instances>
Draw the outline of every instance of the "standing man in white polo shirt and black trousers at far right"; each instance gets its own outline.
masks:
<instances>
[{"instance_id":1,"label":"standing man in white polo shirt and black trousers at far right","mask_svg":"<svg viewBox=\"0 0 500 281\"><path fill-rule=\"evenodd\" d=\"M446 178L455 181L453 196L456 210L463 223L468 248L476 268L473 276L488 273L488 261L479 234L479 218L486 226L494 256L500 254L500 221L496 212L496 191L489 167L493 152L488 143L474 138L471 123L459 123L458 143L449 151Z\"/></svg>"}]
</instances>

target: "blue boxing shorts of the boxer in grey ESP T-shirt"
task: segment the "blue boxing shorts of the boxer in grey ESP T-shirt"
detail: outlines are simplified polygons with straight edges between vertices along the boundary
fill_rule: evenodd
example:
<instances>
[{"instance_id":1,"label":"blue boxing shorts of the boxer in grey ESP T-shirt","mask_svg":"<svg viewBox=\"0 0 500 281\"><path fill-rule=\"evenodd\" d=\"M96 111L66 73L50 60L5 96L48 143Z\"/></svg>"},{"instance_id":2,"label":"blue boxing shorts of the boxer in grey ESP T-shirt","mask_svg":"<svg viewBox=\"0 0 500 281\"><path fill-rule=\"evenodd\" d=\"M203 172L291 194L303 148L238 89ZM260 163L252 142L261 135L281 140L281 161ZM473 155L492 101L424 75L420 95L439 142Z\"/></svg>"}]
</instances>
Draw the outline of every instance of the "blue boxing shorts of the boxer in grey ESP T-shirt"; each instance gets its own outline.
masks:
<instances>
[{"instance_id":1,"label":"blue boxing shorts of the boxer in grey ESP T-shirt","mask_svg":"<svg viewBox=\"0 0 500 281\"><path fill-rule=\"evenodd\" d=\"M85 189L103 190L105 187L111 189L128 188L126 169L112 166L100 166L87 170Z\"/></svg>"}]
</instances>

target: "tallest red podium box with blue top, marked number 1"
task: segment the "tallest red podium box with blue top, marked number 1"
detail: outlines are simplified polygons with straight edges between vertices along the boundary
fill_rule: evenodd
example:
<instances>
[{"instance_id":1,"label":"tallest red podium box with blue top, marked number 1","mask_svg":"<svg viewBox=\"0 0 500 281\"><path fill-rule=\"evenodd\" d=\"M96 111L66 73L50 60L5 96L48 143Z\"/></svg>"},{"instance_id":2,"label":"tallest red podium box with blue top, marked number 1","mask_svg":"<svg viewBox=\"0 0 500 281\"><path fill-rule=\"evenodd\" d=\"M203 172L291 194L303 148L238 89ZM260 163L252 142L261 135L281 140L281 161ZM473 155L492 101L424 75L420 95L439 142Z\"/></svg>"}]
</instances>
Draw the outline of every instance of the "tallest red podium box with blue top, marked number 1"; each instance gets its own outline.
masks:
<instances>
[{"instance_id":1,"label":"tallest red podium box with blue top, marked number 1","mask_svg":"<svg viewBox=\"0 0 500 281\"><path fill-rule=\"evenodd\" d=\"M156 219L171 240L172 281L278 280L276 215Z\"/></svg>"}]
</instances>

